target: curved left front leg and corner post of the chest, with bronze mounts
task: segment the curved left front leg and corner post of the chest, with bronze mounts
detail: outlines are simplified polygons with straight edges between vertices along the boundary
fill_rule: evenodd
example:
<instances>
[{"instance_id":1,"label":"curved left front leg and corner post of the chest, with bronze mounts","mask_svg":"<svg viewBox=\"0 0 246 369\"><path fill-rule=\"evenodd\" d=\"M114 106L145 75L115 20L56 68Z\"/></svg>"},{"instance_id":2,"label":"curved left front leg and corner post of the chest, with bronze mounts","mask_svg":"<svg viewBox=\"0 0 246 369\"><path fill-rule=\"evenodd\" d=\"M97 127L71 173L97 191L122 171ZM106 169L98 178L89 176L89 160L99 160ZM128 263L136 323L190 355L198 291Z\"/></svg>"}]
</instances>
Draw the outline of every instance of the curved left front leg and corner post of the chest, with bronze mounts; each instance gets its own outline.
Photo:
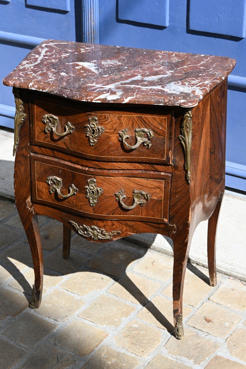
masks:
<instances>
[{"instance_id":1,"label":"curved left front leg and corner post of the chest, with bronze mounts","mask_svg":"<svg viewBox=\"0 0 246 369\"><path fill-rule=\"evenodd\" d=\"M30 307L38 308L43 287L43 253L39 234L38 218L31 202L30 168L30 125L28 114L28 93L13 88L15 98L14 118L14 196L27 239L30 245L34 266L35 281Z\"/></svg>"}]
</instances>

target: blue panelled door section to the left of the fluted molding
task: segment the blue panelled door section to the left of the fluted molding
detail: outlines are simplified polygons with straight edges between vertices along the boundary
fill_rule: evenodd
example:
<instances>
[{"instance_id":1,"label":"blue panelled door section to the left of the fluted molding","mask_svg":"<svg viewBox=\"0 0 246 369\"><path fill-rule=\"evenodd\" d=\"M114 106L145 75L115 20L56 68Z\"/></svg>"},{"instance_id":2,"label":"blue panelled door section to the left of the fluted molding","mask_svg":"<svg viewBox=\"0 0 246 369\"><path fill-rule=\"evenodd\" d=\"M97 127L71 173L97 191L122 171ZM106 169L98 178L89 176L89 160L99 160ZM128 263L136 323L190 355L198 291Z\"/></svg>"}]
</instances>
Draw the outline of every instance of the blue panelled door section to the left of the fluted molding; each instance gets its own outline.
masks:
<instances>
[{"instance_id":1,"label":"blue panelled door section to the left of the fluted molding","mask_svg":"<svg viewBox=\"0 0 246 369\"><path fill-rule=\"evenodd\" d=\"M0 80L44 39L82 41L81 1L0 0ZM0 125L14 127L14 99L0 84Z\"/></svg>"}]
</instances>

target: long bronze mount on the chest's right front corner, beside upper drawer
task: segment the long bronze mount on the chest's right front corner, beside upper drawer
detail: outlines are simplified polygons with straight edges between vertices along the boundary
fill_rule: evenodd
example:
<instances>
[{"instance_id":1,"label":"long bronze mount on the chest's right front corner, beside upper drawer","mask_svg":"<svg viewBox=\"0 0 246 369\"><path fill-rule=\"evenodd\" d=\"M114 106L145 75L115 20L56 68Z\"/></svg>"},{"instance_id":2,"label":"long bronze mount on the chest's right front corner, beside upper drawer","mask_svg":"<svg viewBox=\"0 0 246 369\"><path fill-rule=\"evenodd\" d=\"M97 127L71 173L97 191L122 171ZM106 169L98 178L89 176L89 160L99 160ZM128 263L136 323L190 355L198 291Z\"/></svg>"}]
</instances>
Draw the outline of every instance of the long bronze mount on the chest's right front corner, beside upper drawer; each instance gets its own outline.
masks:
<instances>
[{"instance_id":1,"label":"long bronze mount on the chest's right front corner, beside upper drawer","mask_svg":"<svg viewBox=\"0 0 246 369\"><path fill-rule=\"evenodd\" d=\"M190 184L190 163L191 163L191 138L192 138L192 114L191 110L186 111L181 123L181 135L179 136L184 149L184 169L186 170L186 180Z\"/></svg>"}]
</instances>

